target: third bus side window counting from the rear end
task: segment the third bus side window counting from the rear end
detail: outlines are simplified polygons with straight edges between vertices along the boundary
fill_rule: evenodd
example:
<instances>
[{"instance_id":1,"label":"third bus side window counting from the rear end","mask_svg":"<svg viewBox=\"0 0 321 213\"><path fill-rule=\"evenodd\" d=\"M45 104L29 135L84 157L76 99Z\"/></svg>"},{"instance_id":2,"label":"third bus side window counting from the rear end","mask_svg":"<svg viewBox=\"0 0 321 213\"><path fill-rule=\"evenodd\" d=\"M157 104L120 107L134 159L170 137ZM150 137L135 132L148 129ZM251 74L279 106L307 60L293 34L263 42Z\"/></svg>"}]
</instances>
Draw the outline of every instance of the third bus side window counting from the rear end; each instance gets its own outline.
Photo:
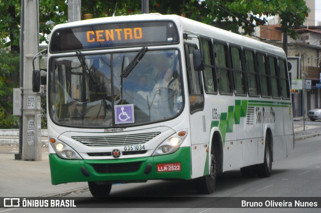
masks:
<instances>
[{"instance_id":1,"label":"third bus side window counting from the rear end","mask_svg":"<svg viewBox=\"0 0 321 213\"><path fill-rule=\"evenodd\" d=\"M266 58L262 54L257 54L257 62L259 68L259 77L260 77L260 88L261 88L261 96L270 96L269 89L268 89L268 75L266 73Z\"/></svg>"}]
</instances>

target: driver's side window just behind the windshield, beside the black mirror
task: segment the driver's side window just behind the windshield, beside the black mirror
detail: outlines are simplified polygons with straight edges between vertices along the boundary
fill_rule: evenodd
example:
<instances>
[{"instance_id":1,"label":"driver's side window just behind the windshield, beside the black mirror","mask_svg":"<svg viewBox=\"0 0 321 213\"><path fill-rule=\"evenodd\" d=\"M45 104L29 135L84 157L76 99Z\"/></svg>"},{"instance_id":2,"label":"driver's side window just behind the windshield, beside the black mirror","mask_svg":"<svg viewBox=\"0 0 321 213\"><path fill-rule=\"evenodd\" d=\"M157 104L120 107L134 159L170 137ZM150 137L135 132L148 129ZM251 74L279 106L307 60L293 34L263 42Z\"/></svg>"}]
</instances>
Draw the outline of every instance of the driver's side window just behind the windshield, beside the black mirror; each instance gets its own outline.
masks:
<instances>
[{"instance_id":1,"label":"driver's side window just behind the windshield, beside the black mirror","mask_svg":"<svg viewBox=\"0 0 321 213\"><path fill-rule=\"evenodd\" d=\"M195 49L195 46L188 44L185 45L185 60L187 67L191 114L204 109L203 85L200 81L202 75L201 72L196 72L193 67L193 50Z\"/></svg>"}]
</instances>

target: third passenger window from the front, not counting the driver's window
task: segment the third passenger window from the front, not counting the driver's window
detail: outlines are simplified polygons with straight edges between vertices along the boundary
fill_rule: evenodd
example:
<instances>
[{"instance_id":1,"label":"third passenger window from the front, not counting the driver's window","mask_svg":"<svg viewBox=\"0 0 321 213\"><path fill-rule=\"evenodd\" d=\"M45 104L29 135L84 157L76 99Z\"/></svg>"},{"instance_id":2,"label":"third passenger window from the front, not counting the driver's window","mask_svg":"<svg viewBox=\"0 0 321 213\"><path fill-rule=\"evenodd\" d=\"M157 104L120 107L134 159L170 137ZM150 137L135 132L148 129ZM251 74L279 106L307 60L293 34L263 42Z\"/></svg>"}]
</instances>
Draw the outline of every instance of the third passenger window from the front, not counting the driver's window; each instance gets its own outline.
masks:
<instances>
[{"instance_id":1,"label":"third passenger window from the front, not counting the driver's window","mask_svg":"<svg viewBox=\"0 0 321 213\"><path fill-rule=\"evenodd\" d=\"M244 68L241 63L241 50L236 47L231 47L231 61L233 71L234 93L235 95L244 95Z\"/></svg>"}]
</instances>

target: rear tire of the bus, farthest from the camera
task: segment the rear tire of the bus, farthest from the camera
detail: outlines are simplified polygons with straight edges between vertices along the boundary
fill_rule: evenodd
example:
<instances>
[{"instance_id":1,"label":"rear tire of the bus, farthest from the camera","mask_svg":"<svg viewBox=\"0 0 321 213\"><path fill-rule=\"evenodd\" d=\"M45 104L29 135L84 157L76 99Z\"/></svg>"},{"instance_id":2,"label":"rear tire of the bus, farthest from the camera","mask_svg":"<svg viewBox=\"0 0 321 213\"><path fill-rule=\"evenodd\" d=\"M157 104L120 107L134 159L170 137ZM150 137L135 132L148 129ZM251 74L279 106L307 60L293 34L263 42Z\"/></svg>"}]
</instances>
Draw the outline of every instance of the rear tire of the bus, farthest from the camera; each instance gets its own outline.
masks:
<instances>
[{"instance_id":1,"label":"rear tire of the bus, farthest from the camera","mask_svg":"<svg viewBox=\"0 0 321 213\"><path fill-rule=\"evenodd\" d=\"M271 139L270 139L270 135L267 134L265 137L264 162L257 165L257 176L269 177L271 175L271 171L272 171Z\"/></svg>"}]
</instances>

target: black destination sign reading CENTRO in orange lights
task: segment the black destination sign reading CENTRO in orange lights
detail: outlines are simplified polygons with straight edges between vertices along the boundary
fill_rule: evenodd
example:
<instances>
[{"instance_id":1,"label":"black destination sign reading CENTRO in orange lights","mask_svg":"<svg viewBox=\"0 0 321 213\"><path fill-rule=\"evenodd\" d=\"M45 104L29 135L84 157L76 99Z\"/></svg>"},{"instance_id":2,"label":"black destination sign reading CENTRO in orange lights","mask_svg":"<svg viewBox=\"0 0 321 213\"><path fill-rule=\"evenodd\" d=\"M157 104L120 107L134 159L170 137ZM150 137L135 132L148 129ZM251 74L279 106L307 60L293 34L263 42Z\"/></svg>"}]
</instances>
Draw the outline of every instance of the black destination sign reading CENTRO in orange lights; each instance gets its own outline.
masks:
<instances>
[{"instance_id":1,"label":"black destination sign reading CENTRO in orange lights","mask_svg":"<svg viewBox=\"0 0 321 213\"><path fill-rule=\"evenodd\" d=\"M169 21L112 23L55 30L50 41L50 52L166 45L178 42L176 26Z\"/></svg>"}]
</instances>

